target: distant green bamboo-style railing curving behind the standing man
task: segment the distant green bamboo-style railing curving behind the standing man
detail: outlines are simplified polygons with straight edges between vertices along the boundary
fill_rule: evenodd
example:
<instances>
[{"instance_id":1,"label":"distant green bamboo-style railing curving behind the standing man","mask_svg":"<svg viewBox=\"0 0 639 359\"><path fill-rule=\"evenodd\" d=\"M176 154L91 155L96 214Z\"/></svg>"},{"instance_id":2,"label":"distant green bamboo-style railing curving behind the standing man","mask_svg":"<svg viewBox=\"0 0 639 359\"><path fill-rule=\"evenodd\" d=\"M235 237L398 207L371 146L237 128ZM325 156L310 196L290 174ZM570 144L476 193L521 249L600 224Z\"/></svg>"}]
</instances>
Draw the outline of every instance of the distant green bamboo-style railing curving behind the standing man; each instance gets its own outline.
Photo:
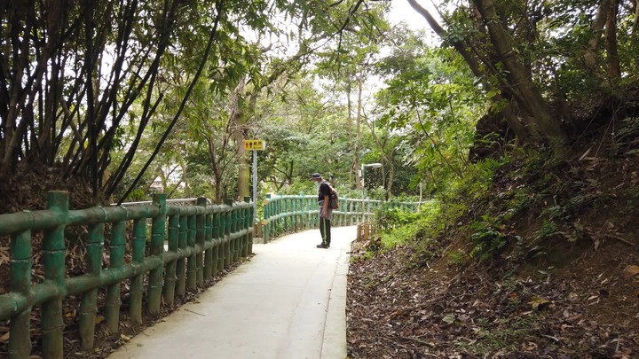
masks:
<instances>
[{"instance_id":1,"label":"distant green bamboo-style railing curving behind the standing man","mask_svg":"<svg viewBox=\"0 0 639 359\"><path fill-rule=\"evenodd\" d=\"M262 237L264 242L283 233L308 230L319 226L317 195L270 196L264 199ZM333 211L332 226L356 225L369 222L383 201L375 199L339 199L339 209ZM396 206L415 210L418 202L395 202Z\"/></svg>"}]
</instances>

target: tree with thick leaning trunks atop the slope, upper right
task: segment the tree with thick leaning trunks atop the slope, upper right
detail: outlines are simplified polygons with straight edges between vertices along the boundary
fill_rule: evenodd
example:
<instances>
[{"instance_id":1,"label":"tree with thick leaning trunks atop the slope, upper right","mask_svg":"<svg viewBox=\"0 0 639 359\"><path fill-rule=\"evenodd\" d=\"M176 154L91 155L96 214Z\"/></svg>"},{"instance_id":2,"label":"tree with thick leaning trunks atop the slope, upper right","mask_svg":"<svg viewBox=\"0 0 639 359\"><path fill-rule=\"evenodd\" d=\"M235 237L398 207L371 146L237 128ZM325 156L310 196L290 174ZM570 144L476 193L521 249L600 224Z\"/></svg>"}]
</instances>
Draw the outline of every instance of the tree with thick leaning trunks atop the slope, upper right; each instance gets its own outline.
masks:
<instances>
[{"instance_id":1,"label":"tree with thick leaning trunks atop the slope, upper right","mask_svg":"<svg viewBox=\"0 0 639 359\"><path fill-rule=\"evenodd\" d=\"M417 1L408 2L481 79L499 113L493 121L508 123L521 142L543 138L564 152L566 124L578 125L567 105L580 88L574 80L594 77L605 96L614 96L619 83L636 76L627 57L636 35L629 26L634 11L615 1L473 0L451 7L446 1L439 9L452 10L440 12L444 25Z\"/></svg>"}]
</instances>

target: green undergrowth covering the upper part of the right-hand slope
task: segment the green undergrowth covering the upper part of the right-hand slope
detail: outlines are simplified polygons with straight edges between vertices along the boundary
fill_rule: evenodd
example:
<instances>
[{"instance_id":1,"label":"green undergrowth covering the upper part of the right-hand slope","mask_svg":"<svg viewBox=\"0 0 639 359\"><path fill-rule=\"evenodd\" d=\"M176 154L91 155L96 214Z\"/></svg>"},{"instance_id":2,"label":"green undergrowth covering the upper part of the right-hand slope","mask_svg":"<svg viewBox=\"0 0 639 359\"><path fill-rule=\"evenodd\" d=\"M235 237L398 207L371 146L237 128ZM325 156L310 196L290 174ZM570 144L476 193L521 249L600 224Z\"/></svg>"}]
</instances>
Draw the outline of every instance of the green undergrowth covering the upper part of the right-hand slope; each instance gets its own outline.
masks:
<instances>
[{"instance_id":1,"label":"green undergrowth covering the upper part of the right-hand slope","mask_svg":"<svg viewBox=\"0 0 639 359\"><path fill-rule=\"evenodd\" d=\"M617 138L627 139L635 128L639 128L635 121L629 121ZM615 143L607 151L608 158L618 158L622 152L629 155L627 167L634 166L634 150L628 145ZM587 159L587 163L584 156L557 160L547 150L519 147L501 160L478 162L418 211L392 203L381 207L375 213L376 223L383 228L381 244L374 249L410 245L412 265L441 256L461 264L467 258L479 263L499 261L506 252L515 260L552 259L562 246L584 241L596 244L605 236L619 238L619 233L635 225L623 214L630 215L639 202L639 191L633 185L639 181L636 171L607 168L611 160L604 156ZM630 177L624 182L598 174L609 170ZM593 208L606 207L617 208L620 215L584 222ZM599 226L595 233L593 223ZM443 244L450 238L466 238L468 251L454 248L445 253ZM434 244L439 244L438 250Z\"/></svg>"}]
</instances>

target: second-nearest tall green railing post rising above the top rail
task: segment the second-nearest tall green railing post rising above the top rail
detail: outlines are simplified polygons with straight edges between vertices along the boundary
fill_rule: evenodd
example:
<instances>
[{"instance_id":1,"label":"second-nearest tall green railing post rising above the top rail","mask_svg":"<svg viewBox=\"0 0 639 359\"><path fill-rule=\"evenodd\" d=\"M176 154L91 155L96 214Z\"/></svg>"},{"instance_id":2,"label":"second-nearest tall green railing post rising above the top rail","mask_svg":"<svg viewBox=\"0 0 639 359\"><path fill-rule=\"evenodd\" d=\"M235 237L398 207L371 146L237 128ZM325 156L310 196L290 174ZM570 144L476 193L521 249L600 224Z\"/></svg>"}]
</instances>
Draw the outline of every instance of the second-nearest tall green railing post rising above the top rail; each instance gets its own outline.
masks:
<instances>
[{"instance_id":1,"label":"second-nearest tall green railing post rising above the top rail","mask_svg":"<svg viewBox=\"0 0 639 359\"><path fill-rule=\"evenodd\" d=\"M166 194L157 193L153 197L154 206L160 207L160 213L153 219L151 225L151 255L160 258L160 265L149 272L148 308L149 313L160 312L162 300L162 273L164 272L164 238L166 234Z\"/></svg>"}]
</instances>

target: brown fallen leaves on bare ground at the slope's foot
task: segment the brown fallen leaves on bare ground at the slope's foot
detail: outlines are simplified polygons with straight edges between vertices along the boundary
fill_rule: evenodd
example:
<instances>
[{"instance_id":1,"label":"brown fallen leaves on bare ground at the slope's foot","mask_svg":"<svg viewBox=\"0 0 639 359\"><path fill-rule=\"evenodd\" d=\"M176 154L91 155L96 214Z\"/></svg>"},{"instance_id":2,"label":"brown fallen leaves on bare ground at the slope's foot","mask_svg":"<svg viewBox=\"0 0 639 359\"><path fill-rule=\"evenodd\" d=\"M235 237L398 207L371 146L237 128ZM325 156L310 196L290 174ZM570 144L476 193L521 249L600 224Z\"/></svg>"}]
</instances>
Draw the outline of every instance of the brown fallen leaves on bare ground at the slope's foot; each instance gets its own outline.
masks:
<instances>
[{"instance_id":1,"label":"brown fallen leaves on bare ground at the slope's foot","mask_svg":"<svg viewBox=\"0 0 639 359\"><path fill-rule=\"evenodd\" d=\"M478 266L407 268L409 248L366 259L356 247L349 357L639 357L639 278L617 274L624 260L597 260L631 261L624 249L610 243L566 269L522 277Z\"/></svg>"}]
</instances>

